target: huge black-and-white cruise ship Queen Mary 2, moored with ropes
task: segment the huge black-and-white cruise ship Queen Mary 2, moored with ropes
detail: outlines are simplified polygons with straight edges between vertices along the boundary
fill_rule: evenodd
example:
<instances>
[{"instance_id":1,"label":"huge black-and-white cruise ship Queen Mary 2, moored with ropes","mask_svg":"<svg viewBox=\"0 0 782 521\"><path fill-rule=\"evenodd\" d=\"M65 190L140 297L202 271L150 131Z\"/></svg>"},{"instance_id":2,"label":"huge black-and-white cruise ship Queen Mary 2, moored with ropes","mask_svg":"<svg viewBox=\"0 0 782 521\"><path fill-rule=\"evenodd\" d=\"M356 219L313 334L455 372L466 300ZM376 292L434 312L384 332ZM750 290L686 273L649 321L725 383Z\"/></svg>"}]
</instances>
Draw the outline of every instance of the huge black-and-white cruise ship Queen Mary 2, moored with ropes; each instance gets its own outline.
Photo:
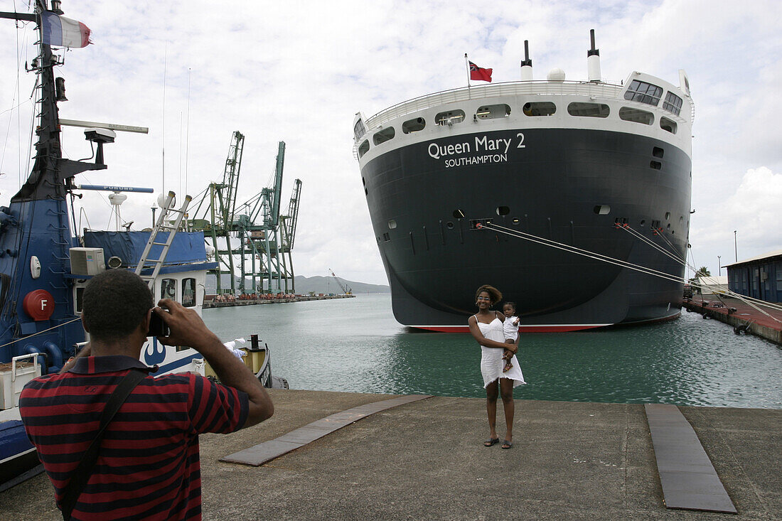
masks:
<instances>
[{"instance_id":1,"label":"huge black-and-white cruise ship Queen Mary 2, moored with ropes","mask_svg":"<svg viewBox=\"0 0 782 521\"><path fill-rule=\"evenodd\" d=\"M400 324L465 332L475 289L516 303L522 332L680 314L694 103L633 71L553 69L424 95L353 120L372 227ZM496 307L499 309L499 306Z\"/></svg>"}]
</instances>

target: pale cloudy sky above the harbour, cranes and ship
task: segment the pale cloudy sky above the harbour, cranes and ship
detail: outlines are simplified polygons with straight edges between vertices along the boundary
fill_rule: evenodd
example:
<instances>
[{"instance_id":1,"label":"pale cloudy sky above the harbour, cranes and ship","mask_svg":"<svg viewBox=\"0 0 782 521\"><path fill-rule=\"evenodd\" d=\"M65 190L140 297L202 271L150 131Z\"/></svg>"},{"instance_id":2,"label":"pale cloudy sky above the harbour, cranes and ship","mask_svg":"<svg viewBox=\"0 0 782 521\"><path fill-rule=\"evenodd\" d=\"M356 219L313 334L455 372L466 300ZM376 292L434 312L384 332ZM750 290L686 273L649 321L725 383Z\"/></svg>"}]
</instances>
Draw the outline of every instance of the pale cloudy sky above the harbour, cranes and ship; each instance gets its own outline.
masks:
<instances>
[{"instance_id":1,"label":"pale cloudy sky above the harbour, cranes and ship","mask_svg":"<svg viewBox=\"0 0 782 521\"><path fill-rule=\"evenodd\" d=\"M223 9L231 5L233 11ZM515 81L529 40L536 79L561 67L587 77L589 30L602 75L640 70L690 78L693 129L692 262L716 275L737 255L782 248L782 3L492 0L439 2L84 2L65 16L90 27L94 45L66 53L61 117L149 127L118 133L109 170L84 184L149 186L196 196L222 178L231 133L245 135L238 202L268 186L285 141L282 198L303 181L293 261L297 275L386 283L357 161L353 115L465 85L464 54ZM28 12L27 0L0 11ZM35 55L33 24L0 20L0 204L29 171ZM163 131L165 129L165 131ZM91 155L66 128L71 159ZM165 153L163 154L163 151ZM163 161L163 156L165 161ZM21 175L20 175L21 172ZM130 194L125 221L149 226L154 196ZM87 192L89 225L109 225L106 195ZM84 221L82 226L87 225ZM723 274L725 271L723 270Z\"/></svg>"}]
</instances>

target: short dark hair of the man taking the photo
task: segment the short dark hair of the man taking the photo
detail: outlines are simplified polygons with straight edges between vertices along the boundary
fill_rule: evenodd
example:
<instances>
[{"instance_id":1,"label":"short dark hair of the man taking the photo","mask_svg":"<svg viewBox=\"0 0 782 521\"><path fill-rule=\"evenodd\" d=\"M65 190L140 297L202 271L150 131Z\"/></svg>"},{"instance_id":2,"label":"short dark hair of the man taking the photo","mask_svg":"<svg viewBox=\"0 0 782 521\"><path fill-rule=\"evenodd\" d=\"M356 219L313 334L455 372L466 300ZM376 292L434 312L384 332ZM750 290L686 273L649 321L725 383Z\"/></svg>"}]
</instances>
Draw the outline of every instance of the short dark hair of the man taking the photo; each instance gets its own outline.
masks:
<instances>
[{"instance_id":1,"label":"short dark hair of the man taking the photo","mask_svg":"<svg viewBox=\"0 0 782 521\"><path fill-rule=\"evenodd\" d=\"M118 340L130 335L152 307L146 282L132 271L117 269L91 278L84 288L81 312L91 336Z\"/></svg>"}]
</instances>

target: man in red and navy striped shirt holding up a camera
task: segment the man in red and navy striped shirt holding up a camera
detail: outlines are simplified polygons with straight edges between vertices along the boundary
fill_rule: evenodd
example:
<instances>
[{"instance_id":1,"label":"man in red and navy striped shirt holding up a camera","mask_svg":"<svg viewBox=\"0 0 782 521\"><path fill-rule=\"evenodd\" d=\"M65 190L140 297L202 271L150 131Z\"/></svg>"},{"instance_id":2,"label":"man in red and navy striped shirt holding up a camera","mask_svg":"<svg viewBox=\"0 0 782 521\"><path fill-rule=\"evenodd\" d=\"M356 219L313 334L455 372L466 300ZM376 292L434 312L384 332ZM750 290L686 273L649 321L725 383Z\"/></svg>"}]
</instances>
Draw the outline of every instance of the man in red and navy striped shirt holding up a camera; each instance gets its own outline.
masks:
<instances>
[{"instance_id":1,"label":"man in red and navy striped shirt holding up a camera","mask_svg":"<svg viewBox=\"0 0 782 521\"><path fill-rule=\"evenodd\" d=\"M73 504L72 519L201 519L199 433L231 433L274 413L264 386L194 310L169 299L158 304L152 307L149 288L131 271L95 276L83 295L88 345L59 374L40 376L22 391L22 421L63 516ZM197 350L221 384L191 373L135 375L139 383L128 386L127 399L111 399L131 372L149 372L139 357L152 313L170 329L158 340ZM121 406L102 431L95 465L84 472L80 462L112 401ZM84 487L74 493L69 483L79 479Z\"/></svg>"}]
</instances>

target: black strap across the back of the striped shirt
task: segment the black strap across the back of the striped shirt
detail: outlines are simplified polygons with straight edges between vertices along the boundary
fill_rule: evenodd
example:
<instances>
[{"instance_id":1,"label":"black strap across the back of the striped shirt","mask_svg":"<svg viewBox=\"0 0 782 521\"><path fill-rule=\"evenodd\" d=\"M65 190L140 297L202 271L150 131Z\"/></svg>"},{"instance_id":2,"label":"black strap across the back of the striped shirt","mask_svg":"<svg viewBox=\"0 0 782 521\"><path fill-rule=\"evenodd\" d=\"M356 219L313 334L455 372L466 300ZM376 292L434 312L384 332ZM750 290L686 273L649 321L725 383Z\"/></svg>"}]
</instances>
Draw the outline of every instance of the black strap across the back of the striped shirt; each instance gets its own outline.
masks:
<instances>
[{"instance_id":1,"label":"black strap across the back of the striped shirt","mask_svg":"<svg viewBox=\"0 0 782 521\"><path fill-rule=\"evenodd\" d=\"M74 471L74 475L70 477L68 484L65 487L63 493L63 519L70 521L70 514L74 511L76 501L81 495L84 486L87 485L92 468L95 466L95 462L98 461L98 451L100 450L100 444L103 440L103 433L106 432L106 426L109 425L114 415L120 410L122 404L125 403L127 397L131 395L133 390L146 378L149 373L149 369L131 368L127 375L124 375L122 381L117 385L109 397L109 401L106 401L106 407L103 408L103 414L100 419L100 428L95 439L84 452L84 456L81 458L81 462Z\"/></svg>"}]
</instances>

